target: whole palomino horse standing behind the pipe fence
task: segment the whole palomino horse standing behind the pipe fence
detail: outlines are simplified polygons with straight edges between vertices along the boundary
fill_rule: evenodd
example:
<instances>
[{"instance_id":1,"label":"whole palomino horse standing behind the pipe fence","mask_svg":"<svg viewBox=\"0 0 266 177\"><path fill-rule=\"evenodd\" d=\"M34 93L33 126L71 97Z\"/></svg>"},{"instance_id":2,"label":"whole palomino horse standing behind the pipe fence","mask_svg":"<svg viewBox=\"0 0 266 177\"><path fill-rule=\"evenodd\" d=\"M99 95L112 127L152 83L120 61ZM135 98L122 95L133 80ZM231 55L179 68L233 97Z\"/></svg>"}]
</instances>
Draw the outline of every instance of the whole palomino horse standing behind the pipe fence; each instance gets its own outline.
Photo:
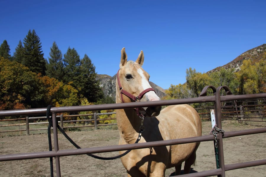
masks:
<instances>
[{"instance_id":1,"label":"whole palomino horse standing behind the pipe fence","mask_svg":"<svg viewBox=\"0 0 266 177\"><path fill-rule=\"evenodd\" d=\"M133 62L127 61L125 48L121 50L120 70L116 79L116 103L160 100L149 84L149 74L141 67L143 61L142 51L136 62ZM144 110L146 117L142 114ZM163 110L161 106L140 110L118 109L116 118L120 145L136 142L143 117L145 130L139 142L201 136L200 117L187 104L168 106ZM184 173L189 173L196 160L199 145L200 142L132 150L121 157L121 161L128 176L165 176L166 168L172 167L175 167L175 173L179 175L184 161Z\"/></svg>"}]
</instances>

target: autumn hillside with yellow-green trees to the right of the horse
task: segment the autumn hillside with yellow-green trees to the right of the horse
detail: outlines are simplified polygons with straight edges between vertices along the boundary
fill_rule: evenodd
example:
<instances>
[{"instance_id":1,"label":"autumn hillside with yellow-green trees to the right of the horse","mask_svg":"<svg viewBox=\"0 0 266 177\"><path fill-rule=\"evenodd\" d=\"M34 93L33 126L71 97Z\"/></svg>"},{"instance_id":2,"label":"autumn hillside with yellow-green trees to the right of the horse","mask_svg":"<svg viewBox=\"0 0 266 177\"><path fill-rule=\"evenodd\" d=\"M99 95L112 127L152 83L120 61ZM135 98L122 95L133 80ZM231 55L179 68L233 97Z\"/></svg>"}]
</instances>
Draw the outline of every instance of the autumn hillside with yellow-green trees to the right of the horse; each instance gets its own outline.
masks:
<instances>
[{"instance_id":1,"label":"autumn hillside with yellow-green trees to the right of the horse","mask_svg":"<svg viewBox=\"0 0 266 177\"><path fill-rule=\"evenodd\" d=\"M239 55L230 63L207 73L186 69L186 83L171 85L165 99L198 97L205 86L228 86L233 94L266 92L266 45Z\"/></svg>"}]
</instances>

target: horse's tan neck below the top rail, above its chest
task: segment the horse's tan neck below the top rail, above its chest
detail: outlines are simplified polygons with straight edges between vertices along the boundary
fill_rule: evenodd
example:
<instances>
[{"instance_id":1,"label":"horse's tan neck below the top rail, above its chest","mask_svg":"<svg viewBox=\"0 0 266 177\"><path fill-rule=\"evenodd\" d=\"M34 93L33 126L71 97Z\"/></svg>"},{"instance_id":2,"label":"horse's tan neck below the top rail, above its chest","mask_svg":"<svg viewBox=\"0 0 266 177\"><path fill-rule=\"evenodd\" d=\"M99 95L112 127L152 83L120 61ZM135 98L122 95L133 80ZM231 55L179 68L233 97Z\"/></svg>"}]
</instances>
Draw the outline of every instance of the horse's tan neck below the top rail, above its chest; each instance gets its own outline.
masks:
<instances>
[{"instance_id":1,"label":"horse's tan neck below the top rail, above its chest","mask_svg":"<svg viewBox=\"0 0 266 177\"><path fill-rule=\"evenodd\" d=\"M116 119L121 138L126 143L134 143L137 140L141 125L141 119L134 109L118 109L116 111Z\"/></svg>"}]
</instances>

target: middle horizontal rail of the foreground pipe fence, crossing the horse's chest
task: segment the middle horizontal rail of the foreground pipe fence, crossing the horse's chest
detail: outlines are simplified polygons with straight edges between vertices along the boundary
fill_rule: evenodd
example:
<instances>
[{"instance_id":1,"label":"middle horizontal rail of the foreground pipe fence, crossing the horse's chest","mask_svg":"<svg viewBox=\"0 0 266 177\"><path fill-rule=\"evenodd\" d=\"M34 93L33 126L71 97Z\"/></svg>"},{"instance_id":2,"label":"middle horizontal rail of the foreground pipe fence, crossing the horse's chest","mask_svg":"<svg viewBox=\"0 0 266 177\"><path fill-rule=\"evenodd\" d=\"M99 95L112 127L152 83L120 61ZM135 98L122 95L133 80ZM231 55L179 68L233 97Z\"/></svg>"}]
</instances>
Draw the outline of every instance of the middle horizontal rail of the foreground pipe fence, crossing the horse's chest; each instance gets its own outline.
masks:
<instances>
[{"instance_id":1,"label":"middle horizontal rail of the foreground pipe fence, crossing the horse's chest","mask_svg":"<svg viewBox=\"0 0 266 177\"><path fill-rule=\"evenodd\" d=\"M223 138L240 136L240 135L256 134L256 133L265 133L265 132L266 132L266 127L258 128L258 129L250 129L250 130L224 132ZM129 150L129 149L143 149L143 148L152 148L152 147L158 147L158 146L178 145L178 144L185 144L185 143L191 143L191 142L202 142L202 141L212 141L212 140L214 140L213 135L205 135L201 137L189 137L189 138L181 138L181 139L174 139L174 140L145 142L145 143L138 143L138 144L59 150L57 152L43 151L43 152L36 152L36 153L9 154L9 155L0 155L0 161L47 158L47 157L55 157L55 156L60 157L60 156L93 154L93 153L106 153L106 152L122 151L122 150Z\"/></svg>"}]
</instances>

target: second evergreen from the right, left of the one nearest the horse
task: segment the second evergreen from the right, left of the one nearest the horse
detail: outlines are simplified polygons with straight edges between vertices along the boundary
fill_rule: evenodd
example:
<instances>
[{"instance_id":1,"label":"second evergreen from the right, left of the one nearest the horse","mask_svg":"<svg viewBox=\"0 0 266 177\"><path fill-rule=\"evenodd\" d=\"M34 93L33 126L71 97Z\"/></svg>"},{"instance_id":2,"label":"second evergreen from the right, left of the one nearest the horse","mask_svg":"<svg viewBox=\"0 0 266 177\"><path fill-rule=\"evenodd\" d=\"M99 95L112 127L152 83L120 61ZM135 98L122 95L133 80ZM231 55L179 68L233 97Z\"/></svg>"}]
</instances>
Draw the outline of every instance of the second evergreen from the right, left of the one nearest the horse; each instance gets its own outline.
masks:
<instances>
[{"instance_id":1,"label":"second evergreen from the right, left of the one nearest the horse","mask_svg":"<svg viewBox=\"0 0 266 177\"><path fill-rule=\"evenodd\" d=\"M72 82L71 85L80 91L80 55L74 48L68 47L64 54L64 83Z\"/></svg>"}]
</instances>

